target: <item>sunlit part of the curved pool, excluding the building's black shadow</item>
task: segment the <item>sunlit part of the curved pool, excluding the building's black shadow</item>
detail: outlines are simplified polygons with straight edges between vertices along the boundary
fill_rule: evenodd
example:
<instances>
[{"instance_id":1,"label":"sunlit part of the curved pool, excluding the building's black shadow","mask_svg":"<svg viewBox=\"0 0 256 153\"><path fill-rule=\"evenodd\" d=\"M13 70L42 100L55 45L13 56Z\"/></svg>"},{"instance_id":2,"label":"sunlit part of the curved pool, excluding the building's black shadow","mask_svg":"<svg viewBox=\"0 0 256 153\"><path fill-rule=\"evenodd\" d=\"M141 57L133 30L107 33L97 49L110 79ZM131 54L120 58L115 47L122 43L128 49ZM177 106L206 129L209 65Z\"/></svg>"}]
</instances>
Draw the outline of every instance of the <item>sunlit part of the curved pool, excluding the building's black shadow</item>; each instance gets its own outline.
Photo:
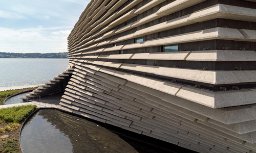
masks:
<instances>
[{"instance_id":1,"label":"sunlit part of the curved pool, excluding the building's black shadow","mask_svg":"<svg viewBox=\"0 0 256 153\"><path fill-rule=\"evenodd\" d=\"M40 110L22 130L26 152L137 152L94 122L57 110Z\"/></svg>"}]
</instances>

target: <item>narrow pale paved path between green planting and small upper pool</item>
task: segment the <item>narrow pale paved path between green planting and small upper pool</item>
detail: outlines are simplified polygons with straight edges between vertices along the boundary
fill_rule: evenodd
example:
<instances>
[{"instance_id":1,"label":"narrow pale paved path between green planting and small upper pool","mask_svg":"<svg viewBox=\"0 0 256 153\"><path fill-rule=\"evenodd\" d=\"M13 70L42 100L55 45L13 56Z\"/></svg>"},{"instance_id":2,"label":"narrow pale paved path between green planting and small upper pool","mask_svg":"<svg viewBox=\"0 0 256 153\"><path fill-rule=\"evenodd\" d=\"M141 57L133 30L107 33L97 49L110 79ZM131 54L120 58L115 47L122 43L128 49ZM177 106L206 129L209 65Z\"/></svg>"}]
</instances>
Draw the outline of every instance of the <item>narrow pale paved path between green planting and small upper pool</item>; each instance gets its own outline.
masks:
<instances>
[{"instance_id":1,"label":"narrow pale paved path between green planting and small upper pool","mask_svg":"<svg viewBox=\"0 0 256 153\"><path fill-rule=\"evenodd\" d=\"M10 104L10 105L1 105L0 109L7 108L7 107L13 107L13 106L22 106L22 105L36 105L37 108L57 108L60 101L31 101L27 103L19 103L19 104Z\"/></svg>"}]
</instances>

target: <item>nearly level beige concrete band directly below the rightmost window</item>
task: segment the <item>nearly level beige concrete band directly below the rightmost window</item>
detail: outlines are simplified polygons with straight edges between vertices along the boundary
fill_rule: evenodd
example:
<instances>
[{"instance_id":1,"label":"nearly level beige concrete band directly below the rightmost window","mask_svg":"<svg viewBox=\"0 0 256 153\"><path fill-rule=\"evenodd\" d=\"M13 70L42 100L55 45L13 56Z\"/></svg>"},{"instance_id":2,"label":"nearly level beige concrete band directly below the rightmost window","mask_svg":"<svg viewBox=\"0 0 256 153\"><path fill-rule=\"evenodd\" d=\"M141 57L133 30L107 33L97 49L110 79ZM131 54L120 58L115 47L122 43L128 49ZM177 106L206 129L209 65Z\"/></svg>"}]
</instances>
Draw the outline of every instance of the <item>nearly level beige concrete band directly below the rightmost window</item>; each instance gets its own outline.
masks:
<instances>
[{"instance_id":1,"label":"nearly level beige concrete band directly below the rightmost window","mask_svg":"<svg viewBox=\"0 0 256 153\"><path fill-rule=\"evenodd\" d=\"M249 50L204 50L173 53L140 53L100 55L99 59L146 59L187 61L256 61L256 53Z\"/></svg>"}]
</instances>

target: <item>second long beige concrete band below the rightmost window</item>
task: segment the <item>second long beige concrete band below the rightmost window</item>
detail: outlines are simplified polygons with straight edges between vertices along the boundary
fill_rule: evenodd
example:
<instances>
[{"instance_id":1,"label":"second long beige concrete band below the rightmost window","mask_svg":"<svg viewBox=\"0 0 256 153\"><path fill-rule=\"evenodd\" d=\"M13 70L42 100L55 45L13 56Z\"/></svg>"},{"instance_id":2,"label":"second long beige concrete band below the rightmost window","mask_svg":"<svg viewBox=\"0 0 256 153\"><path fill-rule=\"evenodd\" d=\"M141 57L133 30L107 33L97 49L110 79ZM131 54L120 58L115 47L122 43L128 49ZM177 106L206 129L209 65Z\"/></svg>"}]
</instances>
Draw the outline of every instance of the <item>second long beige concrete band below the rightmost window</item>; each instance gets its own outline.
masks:
<instances>
[{"instance_id":1,"label":"second long beige concrete band below the rightmost window","mask_svg":"<svg viewBox=\"0 0 256 153\"><path fill-rule=\"evenodd\" d=\"M97 63L95 63L97 64ZM203 82L209 84L232 84L232 83L245 83L255 82L255 71L211 71L211 70L194 70L185 68L172 68L172 67L159 67L149 65L136 65L136 64L123 64L104 62L103 66L121 68L127 70L134 70L146 73L153 73L170 78L178 78L184 80L191 80L196 82ZM93 68L92 66L89 66ZM104 69L106 72L107 69ZM109 73L111 75L113 73ZM115 75L115 74L114 74ZM122 77L121 77L122 76ZM226 77L228 76L228 78ZM124 75L119 75L124 78ZM126 75L127 77L127 75ZM124 78L125 79L125 78Z\"/></svg>"}]
</instances>

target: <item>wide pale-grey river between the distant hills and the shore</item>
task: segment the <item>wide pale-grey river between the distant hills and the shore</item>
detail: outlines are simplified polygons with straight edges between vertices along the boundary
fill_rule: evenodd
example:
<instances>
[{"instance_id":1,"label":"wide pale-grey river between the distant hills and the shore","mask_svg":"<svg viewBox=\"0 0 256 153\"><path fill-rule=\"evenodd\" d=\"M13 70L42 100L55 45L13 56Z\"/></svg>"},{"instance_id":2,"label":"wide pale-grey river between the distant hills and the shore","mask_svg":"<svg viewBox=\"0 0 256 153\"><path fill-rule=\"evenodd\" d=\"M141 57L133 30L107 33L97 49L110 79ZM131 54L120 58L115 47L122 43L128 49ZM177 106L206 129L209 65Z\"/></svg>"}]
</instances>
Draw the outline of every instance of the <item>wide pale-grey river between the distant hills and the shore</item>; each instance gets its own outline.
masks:
<instances>
[{"instance_id":1,"label":"wide pale-grey river between the distant hills and the shore","mask_svg":"<svg viewBox=\"0 0 256 153\"><path fill-rule=\"evenodd\" d=\"M68 59L2 59L0 87L45 84L68 67Z\"/></svg>"}]
</instances>

